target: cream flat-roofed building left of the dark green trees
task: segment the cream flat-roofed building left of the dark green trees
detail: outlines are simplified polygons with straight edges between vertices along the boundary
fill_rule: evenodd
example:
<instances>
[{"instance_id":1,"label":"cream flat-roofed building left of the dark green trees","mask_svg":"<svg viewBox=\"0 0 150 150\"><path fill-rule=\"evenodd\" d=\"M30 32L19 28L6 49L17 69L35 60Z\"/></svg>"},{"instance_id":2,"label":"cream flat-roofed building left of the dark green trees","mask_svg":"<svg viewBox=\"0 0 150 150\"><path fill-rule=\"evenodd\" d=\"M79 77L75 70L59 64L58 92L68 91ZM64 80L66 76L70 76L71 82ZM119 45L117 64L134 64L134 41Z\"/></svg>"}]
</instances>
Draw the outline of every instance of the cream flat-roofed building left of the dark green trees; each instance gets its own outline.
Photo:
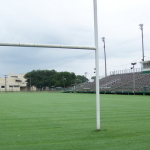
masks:
<instances>
[{"instance_id":1,"label":"cream flat-roofed building left of the dark green trees","mask_svg":"<svg viewBox=\"0 0 150 150\"><path fill-rule=\"evenodd\" d=\"M26 79L24 78L24 74L12 74L9 76L5 76L0 78L0 91L35 91L36 88L34 86L29 89L27 87Z\"/></svg>"}]
</instances>

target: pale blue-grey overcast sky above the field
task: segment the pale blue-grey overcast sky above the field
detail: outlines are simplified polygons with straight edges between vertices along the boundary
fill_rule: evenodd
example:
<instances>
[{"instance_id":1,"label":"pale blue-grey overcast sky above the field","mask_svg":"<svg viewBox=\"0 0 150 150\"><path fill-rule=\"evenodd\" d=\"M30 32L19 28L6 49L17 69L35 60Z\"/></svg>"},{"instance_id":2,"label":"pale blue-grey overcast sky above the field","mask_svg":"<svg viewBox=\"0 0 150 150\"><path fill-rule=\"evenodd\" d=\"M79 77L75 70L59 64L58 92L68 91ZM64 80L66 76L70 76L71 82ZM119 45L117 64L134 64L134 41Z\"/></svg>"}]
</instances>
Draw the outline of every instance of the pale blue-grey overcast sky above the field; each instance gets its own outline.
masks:
<instances>
[{"instance_id":1,"label":"pale blue-grey overcast sky above the field","mask_svg":"<svg viewBox=\"0 0 150 150\"><path fill-rule=\"evenodd\" d=\"M144 24L145 60L150 60L150 0L97 0L100 76L140 68ZM93 0L0 0L0 42L94 46ZM92 50L0 47L0 77L55 69L94 76Z\"/></svg>"}]
</instances>

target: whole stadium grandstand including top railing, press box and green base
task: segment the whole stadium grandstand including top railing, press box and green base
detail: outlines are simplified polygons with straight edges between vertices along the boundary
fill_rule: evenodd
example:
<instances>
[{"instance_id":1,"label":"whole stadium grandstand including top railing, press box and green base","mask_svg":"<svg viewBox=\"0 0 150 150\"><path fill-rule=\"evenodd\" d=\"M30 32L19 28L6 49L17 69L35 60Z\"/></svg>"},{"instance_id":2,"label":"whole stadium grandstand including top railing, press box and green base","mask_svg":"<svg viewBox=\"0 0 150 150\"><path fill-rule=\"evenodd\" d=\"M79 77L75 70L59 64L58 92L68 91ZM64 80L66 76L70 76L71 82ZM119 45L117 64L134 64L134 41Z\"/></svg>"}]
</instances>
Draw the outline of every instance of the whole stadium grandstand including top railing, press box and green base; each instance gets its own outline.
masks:
<instances>
[{"instance_id":1,"label":"whole stadium grandstand including top railing, press box and green base","mask_svg":"<svg viewBox=\"0 0 150 150\"><path fill-rule=\"evenodd\" d=\"M149 94L150 61L140 62L141 69L115 71L99 80L100 93L107 94ZM76 86L74 92L95 93L95 81Z\"/></svg>"}]
</instances>

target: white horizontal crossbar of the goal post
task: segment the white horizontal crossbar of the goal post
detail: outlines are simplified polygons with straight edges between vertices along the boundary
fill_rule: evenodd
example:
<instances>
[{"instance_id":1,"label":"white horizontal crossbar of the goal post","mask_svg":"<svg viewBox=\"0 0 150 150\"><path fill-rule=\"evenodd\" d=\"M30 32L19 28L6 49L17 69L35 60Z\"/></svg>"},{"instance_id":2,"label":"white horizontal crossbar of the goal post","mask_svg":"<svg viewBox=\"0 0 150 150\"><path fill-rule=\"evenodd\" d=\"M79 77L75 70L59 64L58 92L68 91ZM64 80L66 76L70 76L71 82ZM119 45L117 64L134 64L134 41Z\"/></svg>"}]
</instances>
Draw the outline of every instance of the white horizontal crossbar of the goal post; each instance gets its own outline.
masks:
<instances>
[{"instance_id":1,"label":"white horizontal crossbar of the goal post","mask_svg":"<svg viewBox=\"0 0 150 150\"><path fill-rule=\"evenodd\" d=\"M88 47L88 46L33 44L33 43L0 43L0 46L96 50L96 47Z\"/></svg>"}]
</instances>

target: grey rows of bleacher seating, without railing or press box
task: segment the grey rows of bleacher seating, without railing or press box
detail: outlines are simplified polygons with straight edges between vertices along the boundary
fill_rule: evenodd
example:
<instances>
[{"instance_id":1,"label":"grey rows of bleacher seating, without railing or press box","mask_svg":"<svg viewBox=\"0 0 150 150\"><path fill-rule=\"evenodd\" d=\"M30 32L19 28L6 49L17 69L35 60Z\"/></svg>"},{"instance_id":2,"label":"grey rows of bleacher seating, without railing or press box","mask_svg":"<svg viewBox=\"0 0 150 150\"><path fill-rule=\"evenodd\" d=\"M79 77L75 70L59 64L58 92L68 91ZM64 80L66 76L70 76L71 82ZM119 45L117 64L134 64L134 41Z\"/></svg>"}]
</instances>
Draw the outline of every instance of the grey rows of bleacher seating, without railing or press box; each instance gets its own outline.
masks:
<instances>
[{"instance_id":1,"label":"grey rows of bleacher seating, without railing or press box","mask_svg":"<svg viewBox=\"0 0 150 150\"><path fill-rule=\"evenodd\" d=\"M78 86L76 91L95 91L95 82ZM100 91L150 91L150 73L110 75L100 79Z\"/></svg>"}]
</instances>

